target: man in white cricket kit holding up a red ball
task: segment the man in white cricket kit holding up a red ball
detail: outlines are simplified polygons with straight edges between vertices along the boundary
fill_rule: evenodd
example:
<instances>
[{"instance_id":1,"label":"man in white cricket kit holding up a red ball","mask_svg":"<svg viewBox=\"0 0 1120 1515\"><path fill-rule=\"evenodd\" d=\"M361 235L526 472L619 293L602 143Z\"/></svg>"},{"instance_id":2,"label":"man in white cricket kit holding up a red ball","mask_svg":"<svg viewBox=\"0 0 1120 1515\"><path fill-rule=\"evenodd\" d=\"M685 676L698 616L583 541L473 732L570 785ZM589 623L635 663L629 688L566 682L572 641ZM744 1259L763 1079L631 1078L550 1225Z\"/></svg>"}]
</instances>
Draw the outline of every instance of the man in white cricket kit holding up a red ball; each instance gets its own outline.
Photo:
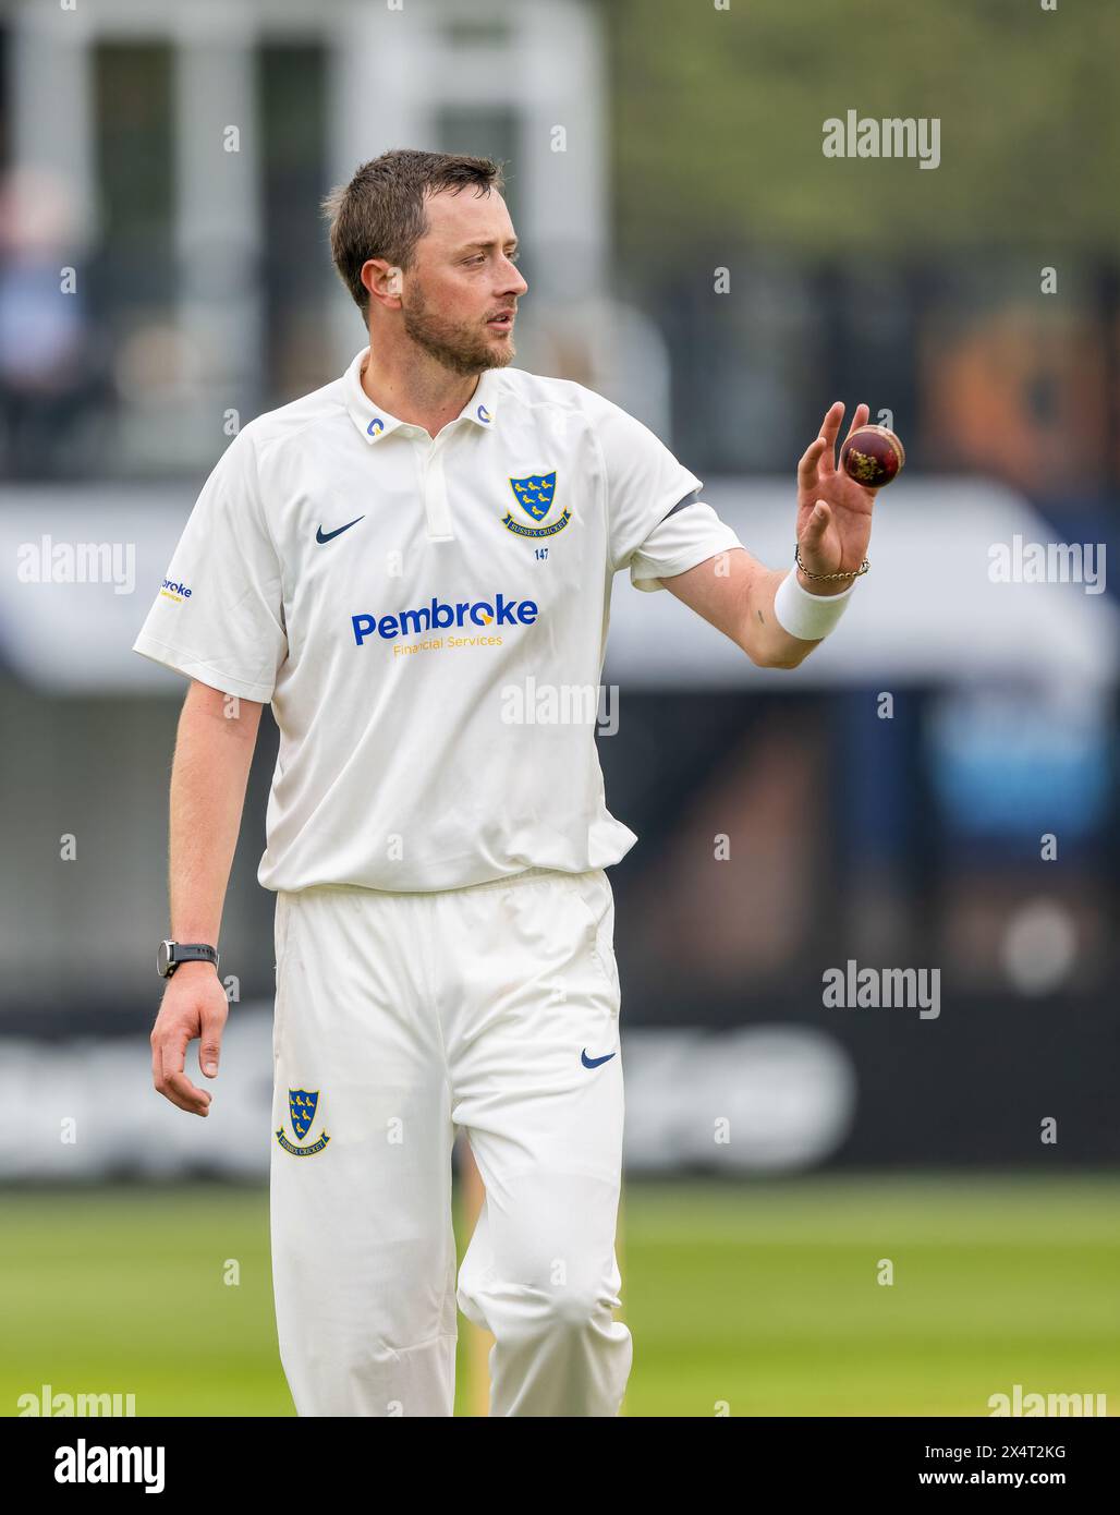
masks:
<instances>
[{"instance_id":1,"label":"man in white cricket kit holding up a red ball","mask_svg":"<svg viewBox=\"0 0 1120 1515\"><path fill-rule=\"evenodd\" d=\"M873 495L834 468L840 405L801 461L787 576L646 427L510 368L527 283L501 189L487 159L390 152L327 200L368 348L235 438L135 644L192 680L151 1047L156 1088L195 1115L210 1094L185 1053L200 1038L216 1074L265 701L280 729L257 877L277 894L272 1273L301 1415L450 1415L456 1301L493 1332L493 1415L619 1412L604 870L636 836L604 806L593 708L519 724L518 697L598 689L621 568L795 668L870 535ZM459 1129L486 1201L456 1279Z\"/></svg>"}]
</instances>

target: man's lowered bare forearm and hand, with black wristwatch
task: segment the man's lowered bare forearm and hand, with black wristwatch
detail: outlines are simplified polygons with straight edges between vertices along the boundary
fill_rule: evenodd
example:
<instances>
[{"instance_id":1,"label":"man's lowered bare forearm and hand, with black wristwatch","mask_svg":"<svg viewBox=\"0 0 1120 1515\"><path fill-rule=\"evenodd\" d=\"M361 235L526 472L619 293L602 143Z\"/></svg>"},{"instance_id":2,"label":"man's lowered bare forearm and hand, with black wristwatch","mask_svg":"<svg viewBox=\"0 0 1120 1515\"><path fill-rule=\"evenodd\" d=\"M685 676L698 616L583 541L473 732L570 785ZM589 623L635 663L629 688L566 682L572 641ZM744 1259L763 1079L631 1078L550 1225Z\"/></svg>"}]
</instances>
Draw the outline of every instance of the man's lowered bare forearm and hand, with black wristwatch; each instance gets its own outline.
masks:
<instances>
[{"instance_id":1,"label":"man's lowered bare forearm and hand, with black wristwatch","mask_svg":"<svg viewBox=\"0 0 1120 1515\"><path fill-rule=\"evenodd\" d=\"M218 945L260 711L254 700L191 680L171 765L168 894L174 941ZM186 1077L186 1048L200 1038L198 1064L215 1077L227 1015L226 989L212 964L176 968L151 1029L151 1077L160 1094L194 1115L209 1112L210 1094Z\"/></svg>"}]
</instances>

